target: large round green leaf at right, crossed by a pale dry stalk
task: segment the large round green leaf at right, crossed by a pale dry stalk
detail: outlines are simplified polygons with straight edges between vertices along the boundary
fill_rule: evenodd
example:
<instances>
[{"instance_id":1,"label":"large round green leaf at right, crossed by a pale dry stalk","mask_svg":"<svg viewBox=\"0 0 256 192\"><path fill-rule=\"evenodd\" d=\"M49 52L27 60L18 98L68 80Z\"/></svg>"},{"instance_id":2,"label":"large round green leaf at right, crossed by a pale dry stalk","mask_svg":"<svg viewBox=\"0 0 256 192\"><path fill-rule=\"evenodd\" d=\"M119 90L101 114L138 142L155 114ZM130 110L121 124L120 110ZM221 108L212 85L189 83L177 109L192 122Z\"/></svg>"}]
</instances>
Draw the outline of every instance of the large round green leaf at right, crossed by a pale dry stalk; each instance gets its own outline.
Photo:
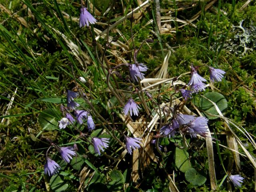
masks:
<instances>
[{"instance_id":1,"label":"large round green leaf at right, crossed by a pale dry stalk","mask_svg":"<svg viewBox=\"0 0 256 192\"><path fill-rule=\"evenodd\" d=\"M215 106L212 104L212 102L216 103L216 105L218 106L221 112L226 110L226 108L228 107L227 100L220 93L209 92L204 94L203 96L206 97L207 99L204 97L201 97L198 100L198 103L196 104L196 106L198 106L198 108L200 108L201 110L205 111L204 115L207 116L207 118L216 119L218 117L214 117L210 114L219 115ZM212 102L210 102L209 100L211 100Z\"/></svg>"}]
</instances>

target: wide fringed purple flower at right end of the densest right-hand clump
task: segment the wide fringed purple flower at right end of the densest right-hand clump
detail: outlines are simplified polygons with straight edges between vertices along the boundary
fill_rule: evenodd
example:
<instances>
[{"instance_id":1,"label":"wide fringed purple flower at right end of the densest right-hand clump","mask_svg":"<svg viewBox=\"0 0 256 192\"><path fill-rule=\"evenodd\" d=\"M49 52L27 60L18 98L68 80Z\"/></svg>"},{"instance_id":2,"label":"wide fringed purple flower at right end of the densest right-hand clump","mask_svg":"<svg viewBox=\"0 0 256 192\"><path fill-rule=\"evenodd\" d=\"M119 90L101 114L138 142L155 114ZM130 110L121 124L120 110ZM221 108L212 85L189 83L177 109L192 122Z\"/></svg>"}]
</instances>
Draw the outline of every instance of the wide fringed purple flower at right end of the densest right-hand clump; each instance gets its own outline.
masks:
<instances>
[{"instance_id":1,"label":"wide fringed purple flower at right end of the densest right-hand clump","mask_svg":"<svg viewBox=\"0 0 256 192\"><path fill-rule=\"evenodd\" d=\"M196 137L196 134L200 134L204 136L207 132L207 125L208 119L205 117L197 117L194 120L190 121L188 125L188 133L191 137Z\"/></svg>"}]
</instances>

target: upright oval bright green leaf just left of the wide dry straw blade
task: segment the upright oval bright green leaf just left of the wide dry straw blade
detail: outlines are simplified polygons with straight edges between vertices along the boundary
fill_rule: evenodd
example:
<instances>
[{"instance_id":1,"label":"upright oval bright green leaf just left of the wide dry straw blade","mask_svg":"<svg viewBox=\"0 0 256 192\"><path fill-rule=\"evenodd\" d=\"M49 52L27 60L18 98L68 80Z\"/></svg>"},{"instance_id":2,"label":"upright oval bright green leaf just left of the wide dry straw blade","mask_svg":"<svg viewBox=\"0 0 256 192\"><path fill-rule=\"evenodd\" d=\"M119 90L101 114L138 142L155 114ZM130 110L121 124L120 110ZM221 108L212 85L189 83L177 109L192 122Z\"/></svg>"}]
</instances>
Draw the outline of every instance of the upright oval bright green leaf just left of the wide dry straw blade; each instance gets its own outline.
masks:
<instances>
[{"instance_id":1,"label":"upright oval bright green leaf just left of the wide dry straw blade","mask_svg":"<svg viewBox=\"0 0 256 192\"><path fill-rule=\"evenodd\" d=\"M176 147L175 150L175 165L181 172L186 172L191 168L188 152Z\"/></svg>"}]
</instances>

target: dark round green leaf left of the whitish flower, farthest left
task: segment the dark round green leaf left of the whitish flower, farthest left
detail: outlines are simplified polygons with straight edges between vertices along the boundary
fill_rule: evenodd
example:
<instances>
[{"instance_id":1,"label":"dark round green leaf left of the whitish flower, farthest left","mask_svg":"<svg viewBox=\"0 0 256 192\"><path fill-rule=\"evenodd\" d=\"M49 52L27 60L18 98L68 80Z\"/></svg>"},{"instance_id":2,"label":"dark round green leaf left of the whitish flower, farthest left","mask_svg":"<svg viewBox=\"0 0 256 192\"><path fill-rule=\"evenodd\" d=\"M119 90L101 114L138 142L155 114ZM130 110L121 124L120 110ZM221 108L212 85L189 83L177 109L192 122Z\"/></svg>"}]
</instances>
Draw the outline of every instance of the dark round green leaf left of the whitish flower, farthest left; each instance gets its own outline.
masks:
<instances>
[{"instance_id":1,"label":"dark round green leaf left of the whitish flower, farthest left","mask_svg":"<svg viewBox=\"0 0 256 192\"><path fill-rule=\"evenodd\" d=\"M56 109L43 110L38 116L38 122L43 130L52 131L58 126L59 112Z\"/></svg>"}]
</instances>

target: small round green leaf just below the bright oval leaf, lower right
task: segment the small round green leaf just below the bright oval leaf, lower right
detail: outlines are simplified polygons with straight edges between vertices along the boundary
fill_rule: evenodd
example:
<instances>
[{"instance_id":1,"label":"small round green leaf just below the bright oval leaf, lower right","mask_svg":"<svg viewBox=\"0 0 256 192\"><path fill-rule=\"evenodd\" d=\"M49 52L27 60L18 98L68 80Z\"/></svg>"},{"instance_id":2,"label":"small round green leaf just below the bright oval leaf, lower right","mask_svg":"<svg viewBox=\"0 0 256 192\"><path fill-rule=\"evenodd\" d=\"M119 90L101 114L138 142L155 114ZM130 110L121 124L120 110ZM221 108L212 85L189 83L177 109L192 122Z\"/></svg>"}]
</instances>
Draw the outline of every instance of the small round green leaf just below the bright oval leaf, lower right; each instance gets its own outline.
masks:
<instances>
[{"instance_id":1,"label":"small round green leaf just below the bright oval leaf, lower right","mask_svg":"<svg viewBox=\"0 0 256 192\"><path fill-rule=\"evenodd\" d=\"M206 177L197 172L194 168L190 168L186 171L185 178L194 186L201 186L206 182Z\"/></svg>"}]
</instances>

